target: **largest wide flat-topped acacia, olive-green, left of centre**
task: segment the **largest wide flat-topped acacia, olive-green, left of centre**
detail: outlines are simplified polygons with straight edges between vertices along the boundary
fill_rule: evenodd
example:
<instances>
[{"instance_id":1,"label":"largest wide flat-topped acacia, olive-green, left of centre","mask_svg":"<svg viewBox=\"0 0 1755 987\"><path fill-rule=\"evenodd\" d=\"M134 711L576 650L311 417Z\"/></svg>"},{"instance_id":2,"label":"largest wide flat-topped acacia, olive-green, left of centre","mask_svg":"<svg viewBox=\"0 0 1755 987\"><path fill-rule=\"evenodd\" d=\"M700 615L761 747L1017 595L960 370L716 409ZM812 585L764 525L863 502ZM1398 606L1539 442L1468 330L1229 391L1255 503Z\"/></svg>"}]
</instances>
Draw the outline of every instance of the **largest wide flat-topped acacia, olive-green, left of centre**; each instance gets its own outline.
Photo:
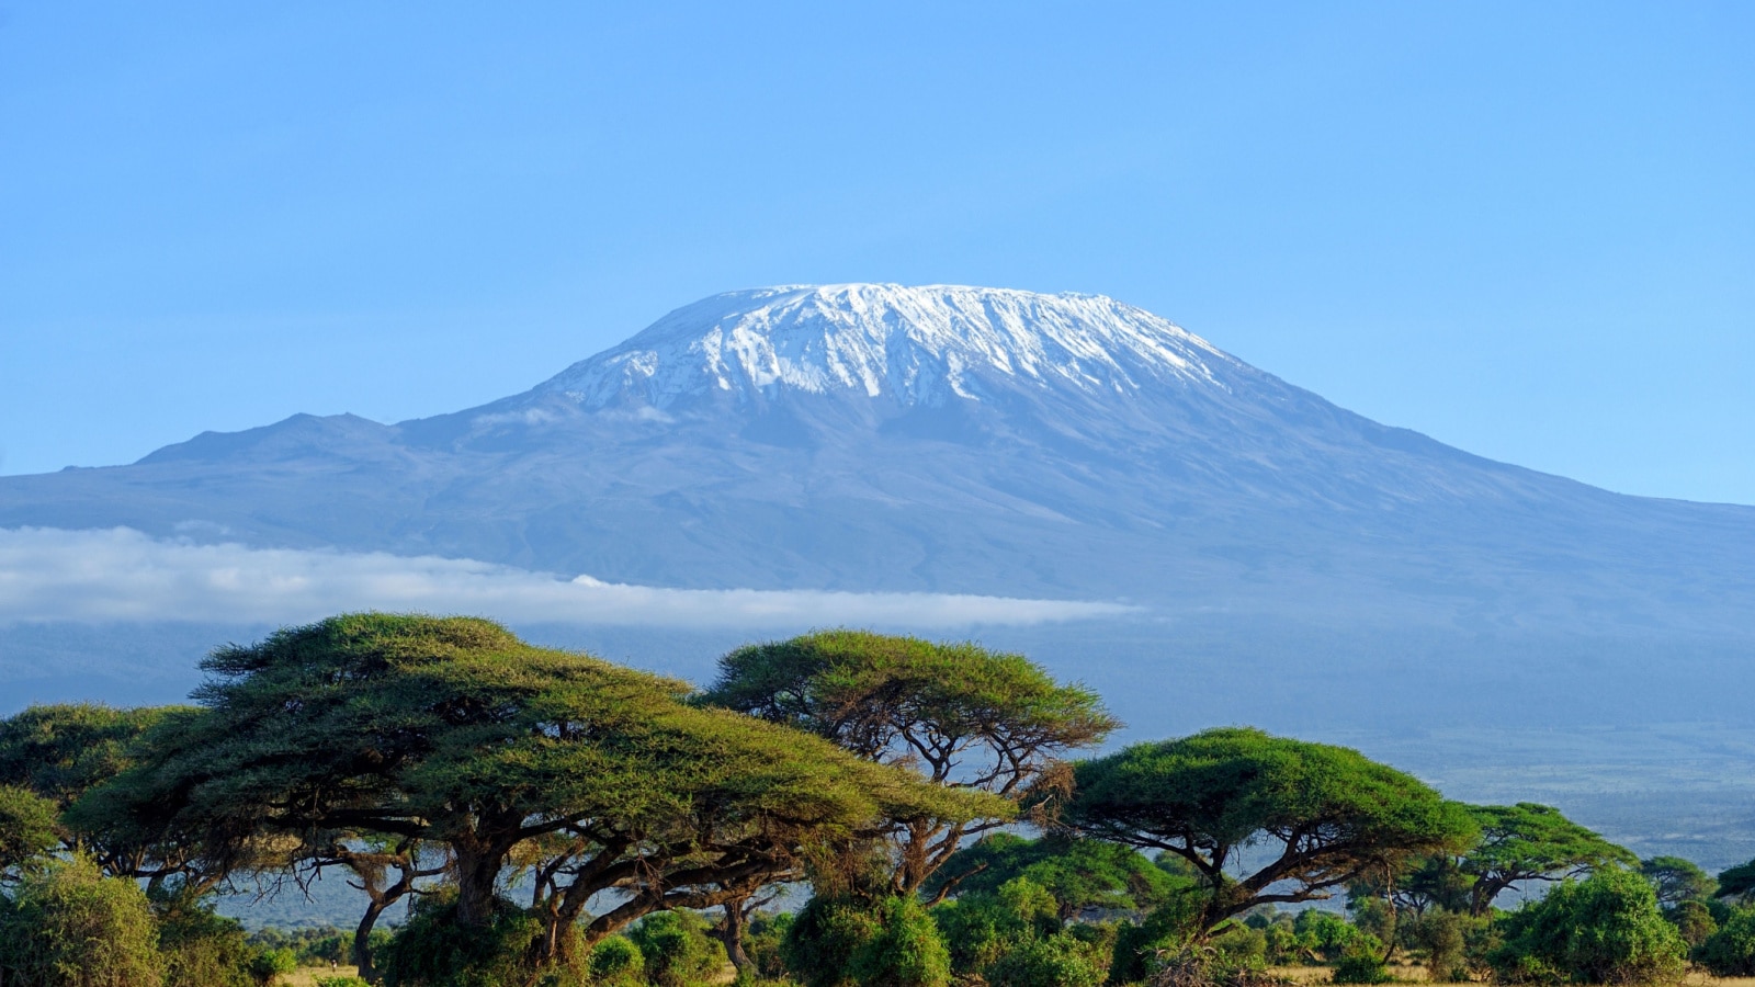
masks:
<instances>
[{"instance_id":1,"label":"largest wide flat-topped acacia, olive-green, left of centre","mask_svg":"<svg viewBox=\"0 0 1755 987\"><path fill-rule=\"evenodd\" d=\"M990 811L809 734L690 706L688 685L535 648L474 618L344 615L214 652L202 710L75 811L186 832L216 869L356 832L442 847L456 920L488 926L537 875L535 952L718 904L876 820ZM588 915L598 892L611 906Z\"/></svg>"}]
</instances>

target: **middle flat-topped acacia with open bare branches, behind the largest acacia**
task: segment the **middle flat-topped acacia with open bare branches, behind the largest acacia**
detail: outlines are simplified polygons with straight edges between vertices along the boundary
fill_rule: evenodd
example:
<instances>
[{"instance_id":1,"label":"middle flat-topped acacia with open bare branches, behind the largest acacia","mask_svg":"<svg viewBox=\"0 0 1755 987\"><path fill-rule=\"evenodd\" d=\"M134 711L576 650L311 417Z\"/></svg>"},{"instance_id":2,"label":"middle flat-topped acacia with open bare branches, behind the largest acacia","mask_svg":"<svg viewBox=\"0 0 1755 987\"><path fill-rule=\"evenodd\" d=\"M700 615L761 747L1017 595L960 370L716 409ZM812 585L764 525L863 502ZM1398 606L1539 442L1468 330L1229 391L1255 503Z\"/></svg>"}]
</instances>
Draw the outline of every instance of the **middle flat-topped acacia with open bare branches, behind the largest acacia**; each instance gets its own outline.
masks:
<instances>
[{"instance_id":1,"label":"middle flat-topped acacia with open bare branches, behind the largest acacia","mask_svg":"<svg viewBox=\"0 0 1755 987\"><path fill-rule=\"evenodd\" d=\"M897 820L890 894L914 894L969 836L1006 825L1030 797L1053 808L1062 757L1118 722L1083 685L1055 681L1023 655L867 630L751 645L720 659L702 697L907 767L932 785L999 796L979 817ZM955 889L939 882L934 901Z\"/></svg>"}]
</instances>

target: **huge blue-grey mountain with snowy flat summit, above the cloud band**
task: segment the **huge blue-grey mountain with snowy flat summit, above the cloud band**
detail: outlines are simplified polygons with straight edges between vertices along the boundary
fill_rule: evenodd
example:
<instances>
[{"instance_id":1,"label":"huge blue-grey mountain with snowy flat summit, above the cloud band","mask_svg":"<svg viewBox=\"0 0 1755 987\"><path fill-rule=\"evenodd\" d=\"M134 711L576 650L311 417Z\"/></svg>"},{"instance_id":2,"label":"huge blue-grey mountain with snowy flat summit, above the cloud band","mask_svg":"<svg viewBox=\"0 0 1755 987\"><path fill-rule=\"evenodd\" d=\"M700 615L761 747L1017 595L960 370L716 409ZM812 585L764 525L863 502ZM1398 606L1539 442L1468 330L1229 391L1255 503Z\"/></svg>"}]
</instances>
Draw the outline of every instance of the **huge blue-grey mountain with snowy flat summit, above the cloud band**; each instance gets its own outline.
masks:
<instances>
[{"instance_id":1,"label":"huge blue-grey mountain with snowy flat summit, above the cloud band","mask_svg":"<svg viewBox=\"0 0 1755 987\"><path fill-rule=\"evenodd\" d=\"M0 478L19 525L1323 625L1744 639L1755 611L1755 508L1490 462L1100 295L960 286L714 295L481 407Z\"/></svg>"}]
</instances>

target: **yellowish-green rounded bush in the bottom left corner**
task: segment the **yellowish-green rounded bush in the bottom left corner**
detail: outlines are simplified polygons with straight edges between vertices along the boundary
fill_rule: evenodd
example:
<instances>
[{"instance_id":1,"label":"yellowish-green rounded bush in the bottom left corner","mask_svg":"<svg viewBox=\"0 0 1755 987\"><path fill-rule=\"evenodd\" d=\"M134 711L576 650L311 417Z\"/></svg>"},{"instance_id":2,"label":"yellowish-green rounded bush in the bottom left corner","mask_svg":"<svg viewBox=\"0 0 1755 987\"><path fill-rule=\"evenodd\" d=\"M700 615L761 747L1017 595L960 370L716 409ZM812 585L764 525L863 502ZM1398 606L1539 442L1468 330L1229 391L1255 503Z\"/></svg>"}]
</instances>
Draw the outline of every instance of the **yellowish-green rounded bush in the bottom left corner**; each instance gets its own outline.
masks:
<instances>
[{"instance_id":1,"label":"yellowish-green rounded bush in the bottom left corner","mask_svg":"<svg viewBox=\"0 0 1755 987\"><path fill-rule=\"evenodd\" d=\"M0 897L0 971L9 987L160 987L151 904L86 857L49 861Z\"/></svg>"}]
</instances>

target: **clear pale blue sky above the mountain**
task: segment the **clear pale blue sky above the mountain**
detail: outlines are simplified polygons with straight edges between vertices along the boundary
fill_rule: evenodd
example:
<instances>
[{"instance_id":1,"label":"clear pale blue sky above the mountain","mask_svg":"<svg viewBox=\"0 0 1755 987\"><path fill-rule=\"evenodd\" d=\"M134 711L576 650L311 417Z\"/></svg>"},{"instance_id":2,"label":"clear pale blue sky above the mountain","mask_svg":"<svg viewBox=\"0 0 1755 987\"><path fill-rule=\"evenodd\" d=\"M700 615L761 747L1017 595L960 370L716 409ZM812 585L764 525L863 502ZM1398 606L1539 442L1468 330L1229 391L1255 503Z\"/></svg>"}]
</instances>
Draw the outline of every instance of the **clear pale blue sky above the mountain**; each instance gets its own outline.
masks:
<instances>
[{"instance_id":1,"label":"clear pale blue sky above the mountain","mask_svg":"<svg viewBox=\"0 0 1755 987\"><path fill-rule=\"evenodd\" d=\"M523 390L770 283L1102 292L1755 502L1755 4L0 11L0 472Z\"/></svg>"}]
</instances>

